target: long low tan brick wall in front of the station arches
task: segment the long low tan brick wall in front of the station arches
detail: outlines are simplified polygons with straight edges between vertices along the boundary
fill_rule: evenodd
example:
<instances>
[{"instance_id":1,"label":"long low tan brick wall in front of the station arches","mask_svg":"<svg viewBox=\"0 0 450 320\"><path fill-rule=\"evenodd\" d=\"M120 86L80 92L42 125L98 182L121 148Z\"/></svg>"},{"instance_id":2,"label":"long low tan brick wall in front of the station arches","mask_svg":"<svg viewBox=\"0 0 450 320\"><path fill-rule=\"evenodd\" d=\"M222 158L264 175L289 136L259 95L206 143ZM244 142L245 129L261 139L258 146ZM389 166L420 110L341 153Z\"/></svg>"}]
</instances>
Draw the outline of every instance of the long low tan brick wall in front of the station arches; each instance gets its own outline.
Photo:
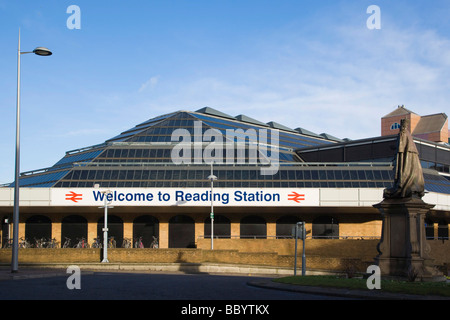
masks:
<instances>
[{"instance_id":1,"label":"long low tan brick wall in front of the station arches","mask_svg":"<svg viewBox=\"0 0 450 320\"><path fill-rule=\"evenodd\" d=\"M318 240L306 241L307 269L345 271L353 267L364 272L377 255L379 240ZM450 242L428 241L436 265L450 265ZM111 263L225 263L294 266L292 239L216 239L214 250L210 240L202 239L197 249L109 249ZM302 241L298 242L297 266L301 267ZM19 264L39 263L99 263L101 249L20 249ZM11 249L0 249L0 263L11 263Z\"/></svg>"}]
</instances>

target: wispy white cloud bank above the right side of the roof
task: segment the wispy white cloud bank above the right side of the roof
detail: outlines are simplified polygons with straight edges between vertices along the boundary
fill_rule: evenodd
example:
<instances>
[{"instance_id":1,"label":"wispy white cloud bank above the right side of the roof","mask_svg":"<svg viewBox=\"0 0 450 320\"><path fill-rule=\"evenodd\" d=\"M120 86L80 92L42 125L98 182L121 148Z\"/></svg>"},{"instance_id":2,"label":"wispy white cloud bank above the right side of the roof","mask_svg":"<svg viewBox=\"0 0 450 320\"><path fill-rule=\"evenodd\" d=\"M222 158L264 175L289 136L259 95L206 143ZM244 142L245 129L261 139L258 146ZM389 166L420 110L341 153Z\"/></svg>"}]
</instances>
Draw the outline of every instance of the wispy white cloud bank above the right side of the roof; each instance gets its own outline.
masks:
<instances>
[{"instance_id":1,"label":"wispy white cloud bank above the right side of the roof","mask_svg":"<svg viewBox=\"0 0 450 320\"><path fill-rule=\"evenodd\" d=\"M151 104L166 112L209 106L351 139L379 135L380 118L397 105L422 115L448 110L447 38L395 26L333 28L330 42L283 35L290 43L278 51L271 46L280 45L279 39L268 39L259 49L268 47L261 52L269 55L243 60L229 71L179 79L172 83L176 90L152 96Z\"/></svg>"}]
</instances>

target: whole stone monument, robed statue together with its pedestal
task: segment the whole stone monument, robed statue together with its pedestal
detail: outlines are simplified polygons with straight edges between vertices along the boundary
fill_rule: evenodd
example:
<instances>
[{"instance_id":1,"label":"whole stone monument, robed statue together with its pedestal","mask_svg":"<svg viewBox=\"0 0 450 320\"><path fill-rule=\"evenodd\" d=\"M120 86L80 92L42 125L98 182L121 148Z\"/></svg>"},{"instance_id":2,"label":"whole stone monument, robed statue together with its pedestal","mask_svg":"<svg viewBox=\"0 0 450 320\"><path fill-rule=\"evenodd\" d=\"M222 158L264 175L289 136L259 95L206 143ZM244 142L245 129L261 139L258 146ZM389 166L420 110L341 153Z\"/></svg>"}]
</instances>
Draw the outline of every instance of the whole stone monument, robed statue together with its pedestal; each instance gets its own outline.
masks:
<instances>
[{"instance_id":1,"label":"whole stone monument, robed statue together with its pedestal","mask_svg":"<svg viewBox=\"0 0 450 320\"><path fill-rule=\"evenodd\" d=\"M424 178L419 153L408 121L403 119L397 142L395 179L385 189L383 201L374 205L383 219L381 240L375 264L382 275L420 281L443 281L430 258L425 238L425 214L434 207L422 200Z\"/></svg>"}]
</instances>

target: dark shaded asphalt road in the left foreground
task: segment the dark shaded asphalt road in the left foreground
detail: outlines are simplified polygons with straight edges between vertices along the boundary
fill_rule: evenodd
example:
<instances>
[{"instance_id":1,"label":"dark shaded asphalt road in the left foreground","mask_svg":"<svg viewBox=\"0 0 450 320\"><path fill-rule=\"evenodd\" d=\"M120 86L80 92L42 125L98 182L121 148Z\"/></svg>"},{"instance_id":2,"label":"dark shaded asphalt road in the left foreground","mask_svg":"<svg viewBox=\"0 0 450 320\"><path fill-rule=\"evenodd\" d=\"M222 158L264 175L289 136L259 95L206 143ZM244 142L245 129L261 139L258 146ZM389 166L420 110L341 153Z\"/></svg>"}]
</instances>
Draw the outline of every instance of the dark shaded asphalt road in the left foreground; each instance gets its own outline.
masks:
<instances>
[{"instance_id":1,"label":"dark shaded asphalt road in the left foreground","mask_svg":"<svg viewBox=\"0 0 450 320\"><path fill-rule=\"evenodd\" d=\"M327 300L340 299L256 288L248 281L264 278L210 274L81 274L80 289L68 289L67 276L3 280L0 300ZM267 279L267 278L266 278ZM75 282L73 282L75 283Z\"/></svg>"}]
</instances>

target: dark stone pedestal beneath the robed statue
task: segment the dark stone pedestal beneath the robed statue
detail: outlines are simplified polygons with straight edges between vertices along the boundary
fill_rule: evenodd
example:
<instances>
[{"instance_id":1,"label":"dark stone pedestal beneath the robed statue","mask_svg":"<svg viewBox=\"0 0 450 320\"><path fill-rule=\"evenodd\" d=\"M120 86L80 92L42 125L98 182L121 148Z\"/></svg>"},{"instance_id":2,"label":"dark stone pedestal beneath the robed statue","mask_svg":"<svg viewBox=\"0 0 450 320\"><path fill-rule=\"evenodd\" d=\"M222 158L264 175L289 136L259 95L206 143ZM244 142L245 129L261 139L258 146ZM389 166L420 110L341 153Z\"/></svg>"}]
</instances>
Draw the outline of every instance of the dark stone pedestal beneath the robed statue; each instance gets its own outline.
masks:
<instances>
[{"instance_id":1,"label":"dark stone pedestal beneath the robed statue","mask_svg":"<svg viewBox=\"0 0 450 320\"><path fill-rule=\"evenodd\" d=\"M425 238L425 214L434 207L419 198L384 199L374 205L383 217L375 263L382 275L420 281L443 281L429 256Z\"/></svg>"}]
</instances>

